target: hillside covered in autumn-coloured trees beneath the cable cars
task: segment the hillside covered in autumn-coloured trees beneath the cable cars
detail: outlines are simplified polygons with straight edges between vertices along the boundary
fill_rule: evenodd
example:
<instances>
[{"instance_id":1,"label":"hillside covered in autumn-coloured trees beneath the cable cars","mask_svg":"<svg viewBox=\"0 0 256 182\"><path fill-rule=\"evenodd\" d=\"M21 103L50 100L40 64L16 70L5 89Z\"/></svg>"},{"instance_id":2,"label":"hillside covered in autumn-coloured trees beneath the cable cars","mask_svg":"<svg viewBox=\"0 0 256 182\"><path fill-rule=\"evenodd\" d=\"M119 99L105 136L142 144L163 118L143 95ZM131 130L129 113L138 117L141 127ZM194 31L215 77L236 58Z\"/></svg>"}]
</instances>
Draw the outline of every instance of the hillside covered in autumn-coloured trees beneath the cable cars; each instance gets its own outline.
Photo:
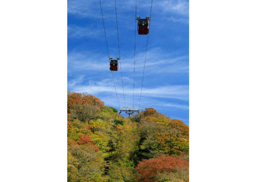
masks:
<instances>
[{"instance_id":1,"label":"hillside covered in autumn-coloured trees beneath the cable cars","mask_svg":"<svg viewBox=\"0 0 256 182\"><path fill-rule=\"evenodd\" d=\"M68 182L187 182L189 128L154 108L130 118L68 92Z\"/></svg>"}]
</instances>

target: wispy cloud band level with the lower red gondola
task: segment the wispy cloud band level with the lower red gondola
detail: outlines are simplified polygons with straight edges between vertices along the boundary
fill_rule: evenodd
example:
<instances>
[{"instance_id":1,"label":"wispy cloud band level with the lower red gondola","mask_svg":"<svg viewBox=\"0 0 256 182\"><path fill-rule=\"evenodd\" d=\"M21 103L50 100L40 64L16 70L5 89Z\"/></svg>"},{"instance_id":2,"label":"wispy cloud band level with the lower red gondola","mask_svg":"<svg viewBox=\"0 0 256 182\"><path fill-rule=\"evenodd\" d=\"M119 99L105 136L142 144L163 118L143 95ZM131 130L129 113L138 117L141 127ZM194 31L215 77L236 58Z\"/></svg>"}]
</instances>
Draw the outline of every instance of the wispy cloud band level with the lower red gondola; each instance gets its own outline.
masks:
<instances>
[{"instance_id":1,"label":"wispy cloud band level with the lower red gondola","mask_svg":"<svg viewBox=\"0 0 256 182\"><path fill-rule=\"evenodd\" d=\"M86 57L85 55L90 55ZM163 56L164 55L164 56ZM131 64L132 56L121 58L122 70L125 72L133 72L134 65ZM92 61L97 60L97 61ZM136 54L136 70L142 70L144 67L145 53ZM89 52L70 52L68 54L69 71L72 70L97 70L109 71L109 61L106 55L93 54ZM164 67L163 67L164 65ZM147 72L162 72L169 70L171 72L188 72L188 56L173 57L172 53L161 52L161 49L155 48L147 52L145 67ZM119 64L120 68L120 64Z\"/></svg>"}]
</instances>

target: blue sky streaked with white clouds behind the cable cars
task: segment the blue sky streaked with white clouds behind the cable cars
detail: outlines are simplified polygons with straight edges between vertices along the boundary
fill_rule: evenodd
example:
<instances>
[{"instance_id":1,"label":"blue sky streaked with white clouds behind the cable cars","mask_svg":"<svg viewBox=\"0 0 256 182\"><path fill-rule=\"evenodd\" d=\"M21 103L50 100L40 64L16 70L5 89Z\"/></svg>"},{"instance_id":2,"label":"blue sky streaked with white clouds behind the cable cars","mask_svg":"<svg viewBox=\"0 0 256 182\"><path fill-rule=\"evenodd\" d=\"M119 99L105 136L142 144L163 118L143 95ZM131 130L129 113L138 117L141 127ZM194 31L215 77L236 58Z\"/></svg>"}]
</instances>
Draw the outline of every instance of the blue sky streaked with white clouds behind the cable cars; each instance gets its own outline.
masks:
<instances>
[{"instance_id":1,"label":"blue sky streaked with white clouds behind the cable cars","mask_svg":"<svg viewBox=\"0 0 256 182\"><path fill-rule=\"evenodd\" d=\"M135 0L116 0L120 61L126 106L133 104ZM115 1L102 0L109 54L118 53ZM137 15L150 15L151 1L137 0ZM153 107L189 124L189 14L187 0L153 0L140 108ZM147 35L136 33L134 105L139 106ZM120 106L120 73L113 71ZM99 0L68 0L68 90L85 92L118 109L109 70Z\"/></svg>"}]
</instances>

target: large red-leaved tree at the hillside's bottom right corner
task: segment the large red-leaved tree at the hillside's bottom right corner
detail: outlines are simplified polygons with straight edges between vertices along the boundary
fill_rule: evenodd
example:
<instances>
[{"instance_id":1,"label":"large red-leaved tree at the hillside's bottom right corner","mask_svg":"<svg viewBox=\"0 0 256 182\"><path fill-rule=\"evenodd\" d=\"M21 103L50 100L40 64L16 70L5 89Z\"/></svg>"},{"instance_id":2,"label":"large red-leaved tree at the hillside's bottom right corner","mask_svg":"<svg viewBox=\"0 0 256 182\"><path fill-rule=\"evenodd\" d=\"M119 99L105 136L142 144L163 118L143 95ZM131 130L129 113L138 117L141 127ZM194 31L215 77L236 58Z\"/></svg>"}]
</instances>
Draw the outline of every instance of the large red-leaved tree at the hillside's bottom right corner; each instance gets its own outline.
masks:
<instances>
[{"instance_id":1,"label":"large red-leaved tree at the hillside's bottom right corner","mask_svg":"<svg viewBox=\"0 0 256 182\"><path fill-rule=\"evenodd\" d=\"M181 158L173 158L171 156L159 156L156 159L142 159L138 167L136 179L141 182L156 182L155 176L162 172L175 172L183 167L188 167L188 161L183 161Z\"/></svg>"}]
</instances>

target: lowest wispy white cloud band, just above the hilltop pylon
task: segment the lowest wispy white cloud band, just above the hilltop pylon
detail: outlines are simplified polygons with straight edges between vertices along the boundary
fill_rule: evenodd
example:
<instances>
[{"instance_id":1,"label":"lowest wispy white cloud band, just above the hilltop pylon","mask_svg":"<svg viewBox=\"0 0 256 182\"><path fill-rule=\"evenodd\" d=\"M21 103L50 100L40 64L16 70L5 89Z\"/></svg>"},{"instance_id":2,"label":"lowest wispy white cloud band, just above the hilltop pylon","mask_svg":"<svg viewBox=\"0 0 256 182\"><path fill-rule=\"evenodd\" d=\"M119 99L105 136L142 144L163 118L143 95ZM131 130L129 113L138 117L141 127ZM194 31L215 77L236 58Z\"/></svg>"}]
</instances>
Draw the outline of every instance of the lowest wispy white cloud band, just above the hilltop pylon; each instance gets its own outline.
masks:
<instances>
[{"instance_id":1,"label":"lowest wispy white cloud band, just above the hilltop pylon","mask_svg":"<svg viewBox=\"0 0 256 182\"><path fill-rule=\"evenodd\" d=\"M99 97L105 102L105 105L116 107L117 98L113 85L113 80L110 78L103 79L101 81L89 80L84 84L81 84L83 77L76 78L70 81L68 84L69 91L89 93ZM116 90L119 99L120 106L124 105L123 89L120 85L120 80L116 80ZM140 100L140 88L134 90L134 105L139 105ZM133 89L125 88L126 105L132 106ZM164 98L164 99L161 99ZM188 105L180 104L188 102L188 86L175 85L175 86L158 86L155 88L143 87L141 108L144 107L165 107L169 109L181 109L188 110Z\"/></svg>"}]
</instances>

